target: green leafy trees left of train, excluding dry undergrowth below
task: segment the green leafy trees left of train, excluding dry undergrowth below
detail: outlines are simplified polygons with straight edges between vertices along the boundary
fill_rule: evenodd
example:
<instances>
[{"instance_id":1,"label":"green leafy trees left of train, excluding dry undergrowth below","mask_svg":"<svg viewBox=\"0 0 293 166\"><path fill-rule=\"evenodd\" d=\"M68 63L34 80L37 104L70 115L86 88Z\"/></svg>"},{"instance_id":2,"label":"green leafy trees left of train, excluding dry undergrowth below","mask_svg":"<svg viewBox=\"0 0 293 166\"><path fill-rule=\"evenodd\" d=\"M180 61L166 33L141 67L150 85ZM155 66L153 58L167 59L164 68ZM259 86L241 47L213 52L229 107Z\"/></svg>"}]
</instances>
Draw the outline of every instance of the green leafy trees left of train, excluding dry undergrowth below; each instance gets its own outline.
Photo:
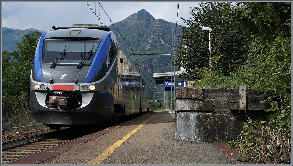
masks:
<instances>
[{"instance_id":1,"label":"green leafy trees left of train, excluding dry undergrowth below","mask_svg":"<svg viewBox=\"0 0 293 166\"><path fill-rule=\"evenodd\" d=\"M2 90L17 95L22 90L29 94L30 71L41 33L24 35L17 43L17 51L2 52Z\"/></svg>"}]
</instances>

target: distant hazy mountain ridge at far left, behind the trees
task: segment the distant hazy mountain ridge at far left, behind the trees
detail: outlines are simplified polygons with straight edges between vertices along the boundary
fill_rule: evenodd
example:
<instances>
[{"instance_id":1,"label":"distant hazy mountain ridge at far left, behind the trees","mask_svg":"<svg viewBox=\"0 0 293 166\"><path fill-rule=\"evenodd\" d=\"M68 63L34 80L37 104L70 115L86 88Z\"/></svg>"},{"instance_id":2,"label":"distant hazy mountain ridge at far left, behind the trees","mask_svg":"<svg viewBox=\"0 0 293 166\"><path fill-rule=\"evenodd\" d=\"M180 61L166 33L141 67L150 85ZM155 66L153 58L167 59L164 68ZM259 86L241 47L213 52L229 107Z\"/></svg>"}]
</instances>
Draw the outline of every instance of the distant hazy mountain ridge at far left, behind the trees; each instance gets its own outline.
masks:
<instances>
[{"instance_id":1,"label":"distant hazy mountain ridge at far left, behind the trees","mask_svg":"<svg viewBox=\"0 0 293 166\"><path fill-rule=\"evenodd\" d=\"M12 52L16 50L16 43L21 41L23 35L32 34L34 31L45 32L44 30L36 30L34 28L19 30L13 28L2 27L2 51Z\"/></svg>"}]
</instances>

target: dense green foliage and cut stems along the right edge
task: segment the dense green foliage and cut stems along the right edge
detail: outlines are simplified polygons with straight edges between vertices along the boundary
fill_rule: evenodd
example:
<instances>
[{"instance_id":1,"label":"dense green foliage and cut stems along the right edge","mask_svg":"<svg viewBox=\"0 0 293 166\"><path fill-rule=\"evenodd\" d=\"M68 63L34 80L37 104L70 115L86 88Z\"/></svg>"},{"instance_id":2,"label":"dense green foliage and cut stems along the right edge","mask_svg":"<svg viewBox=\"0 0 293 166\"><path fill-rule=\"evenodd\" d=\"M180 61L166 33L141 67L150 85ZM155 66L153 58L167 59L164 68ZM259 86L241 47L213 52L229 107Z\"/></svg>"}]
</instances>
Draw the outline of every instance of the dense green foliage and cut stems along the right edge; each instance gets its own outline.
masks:
<instances>
[{"instance_id":1,"label":"dense green foliage and cut stems along the right edge","mask_svg":"<svg viewBox=\"0 0 293 166\"><path fill-rule=\"evenodd\" d=\"M237 138L231 144L243 154L262 164L290 164L290 162L292 164L286 155L291 152L290 140L292 139L291 3L239 2L236 8L229 12L230 20L236 21L245 30L246 40L251 41L248 45L249 63L241 67L241 72L246 75L242 84L249 83L253 88L272 91L272 96L266 99L272 103L266 110L272 113L269 116L269 128L263 130L267 136L262 138L267 139L266 145L258 142L247 146L247 141L252 142L247 131L243 131L241 138ZM263 123L248 123L246 128L262 130ZM279 140L282 139L288 140L288 143L281 146L282 143ZM258 138L258 140L261 139ZM280 151L279 155L272 153L274 150L269 146L270 143L276 143L274 149L277 148L277 151ZM263 153L260 146L268 146L268 153ZM253 155L257 148L259 156ZM266 155L268 157L263 157Z\"/></svg>"}]
</instances>

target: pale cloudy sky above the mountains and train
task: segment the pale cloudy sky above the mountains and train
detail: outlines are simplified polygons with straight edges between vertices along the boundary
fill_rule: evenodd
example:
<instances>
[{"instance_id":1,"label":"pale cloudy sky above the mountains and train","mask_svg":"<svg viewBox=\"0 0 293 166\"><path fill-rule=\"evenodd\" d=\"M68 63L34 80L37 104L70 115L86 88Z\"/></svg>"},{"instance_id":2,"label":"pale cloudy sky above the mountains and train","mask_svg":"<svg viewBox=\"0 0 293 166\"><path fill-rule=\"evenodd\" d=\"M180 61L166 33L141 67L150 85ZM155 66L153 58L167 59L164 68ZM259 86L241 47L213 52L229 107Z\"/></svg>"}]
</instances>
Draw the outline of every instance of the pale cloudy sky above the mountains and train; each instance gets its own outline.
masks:
<instances>
[{"instance_id":1,"label":"pale cloudy sky above the mountains and train","mask_svg":"<svg viewBox=\"0 0 293 166\"><path fill-rule=\"evenodd\" d=\"M89 6L96 12L103 24L109 26L145 9L154 18L176 23L178 1L1 1L1 27L14 29L52 30L56 27L70 27L72 24L99 24ZM102 7L105 12L103 11ZM199 6L200 1L179 1L177 24L187 26L190 6Z\"/></svg>"}]
</instances>

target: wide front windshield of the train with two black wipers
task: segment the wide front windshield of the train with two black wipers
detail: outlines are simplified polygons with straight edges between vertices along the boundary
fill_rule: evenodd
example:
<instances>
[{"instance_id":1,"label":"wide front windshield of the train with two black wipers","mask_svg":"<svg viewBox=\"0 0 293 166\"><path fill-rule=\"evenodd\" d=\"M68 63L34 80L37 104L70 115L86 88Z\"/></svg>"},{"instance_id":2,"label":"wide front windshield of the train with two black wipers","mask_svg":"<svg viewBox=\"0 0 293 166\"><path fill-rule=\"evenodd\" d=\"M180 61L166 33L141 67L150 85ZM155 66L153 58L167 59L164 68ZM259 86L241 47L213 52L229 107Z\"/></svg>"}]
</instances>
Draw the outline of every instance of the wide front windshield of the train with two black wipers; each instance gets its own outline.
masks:
<instances>
[{"instance_id":1,"label":"wide front windshield of the train with two black wipers","mask_svg":"<svg viewBox=\"0 0 293 166\"><path fill-rule=\"evenodd\" d=\"M79 64L92 50L92 56L86 58L83 64L91 64L101 40L64 40L46 39L43 51L43 64L52 64L54 60L65 50L56 64Z\"/></svg>"}]
</instances>

